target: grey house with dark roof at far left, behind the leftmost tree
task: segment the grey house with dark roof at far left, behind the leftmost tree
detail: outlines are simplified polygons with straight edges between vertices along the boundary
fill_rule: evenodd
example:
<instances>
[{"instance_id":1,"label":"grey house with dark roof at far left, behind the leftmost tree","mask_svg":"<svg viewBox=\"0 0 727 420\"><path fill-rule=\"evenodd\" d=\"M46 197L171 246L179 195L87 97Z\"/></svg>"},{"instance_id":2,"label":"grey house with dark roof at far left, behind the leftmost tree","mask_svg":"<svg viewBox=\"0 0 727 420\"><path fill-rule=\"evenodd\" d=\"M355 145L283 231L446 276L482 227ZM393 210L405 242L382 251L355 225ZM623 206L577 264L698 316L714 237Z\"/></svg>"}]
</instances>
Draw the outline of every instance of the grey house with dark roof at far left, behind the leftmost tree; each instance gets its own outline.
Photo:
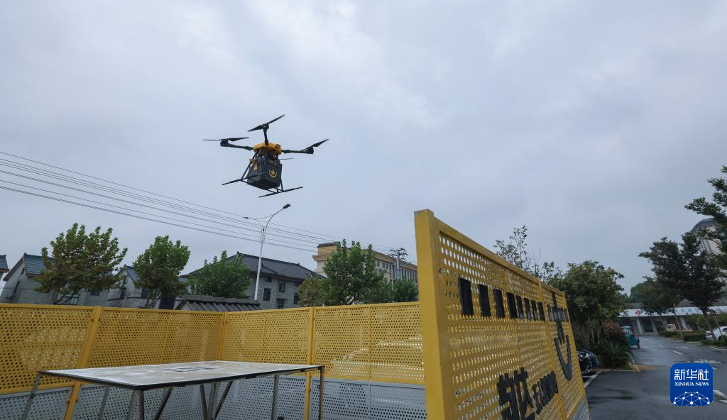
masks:
<instances>
[{"instance_id":1,"label":"grey house with dark roof at far left, behind the leftmost tree","mask_svg":"<svg viewBox=\"0 0 727 420\"><path fill-rule=\"evenodd\" d=\"M43 258L39 255L23 254L3 279L4 286L0 292L2 303L26 304L52 304L50 294L36 291L40 286L35 278L45 268ZM65 304L78 304L82 306L103 305L108 291L89 292L81 290L76 296L71 296Z\"/></svg>"}]
</instances>

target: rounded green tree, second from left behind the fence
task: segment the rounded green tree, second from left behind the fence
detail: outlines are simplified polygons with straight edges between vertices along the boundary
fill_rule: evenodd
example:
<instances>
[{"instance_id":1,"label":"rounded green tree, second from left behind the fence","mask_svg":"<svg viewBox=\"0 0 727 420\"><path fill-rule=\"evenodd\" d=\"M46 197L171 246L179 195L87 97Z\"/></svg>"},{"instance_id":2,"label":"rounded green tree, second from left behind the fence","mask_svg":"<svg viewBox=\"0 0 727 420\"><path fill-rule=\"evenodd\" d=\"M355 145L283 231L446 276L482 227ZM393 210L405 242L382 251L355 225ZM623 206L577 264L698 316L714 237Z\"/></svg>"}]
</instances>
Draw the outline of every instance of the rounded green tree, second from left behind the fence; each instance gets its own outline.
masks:
<instances>
[{"instance_id":1,"label":"rounded green tree, second from left behind the fence","mask_svg":"<svg viewBox=\"0 0 727 420\"><path fill-rule=\"evenodd\" d=\"M180 281L180 272L189 261L190 251L180 241L172 243L169 235L157 236L136 261L134 271L137 280L134 287L145 288L147 299L144 307L153 307L160 296L179 296L187 285Z\"/></svg>"}]
</instances>

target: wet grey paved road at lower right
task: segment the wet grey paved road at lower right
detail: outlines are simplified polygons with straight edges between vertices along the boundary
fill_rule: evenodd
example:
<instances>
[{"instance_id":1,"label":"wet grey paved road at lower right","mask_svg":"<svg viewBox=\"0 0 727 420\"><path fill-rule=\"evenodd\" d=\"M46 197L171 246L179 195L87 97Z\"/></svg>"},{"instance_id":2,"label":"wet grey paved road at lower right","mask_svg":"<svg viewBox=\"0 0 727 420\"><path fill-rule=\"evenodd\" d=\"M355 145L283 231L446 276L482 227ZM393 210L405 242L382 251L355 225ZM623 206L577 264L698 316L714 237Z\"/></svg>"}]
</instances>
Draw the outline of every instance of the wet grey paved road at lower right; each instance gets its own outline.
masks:
<instances>
[{"instance_id":1,"label":"wet grey paved road at lower right","mask_svg":"<svg viewBox=\"0 0 727 420\"><path fill-rule=\"evenodd\" d=\"M632 348L641 372L602 372L588 384L592 420L727 419L727 350L659 336L641 336L641 349ZM714 369L715 403L707 407L676 407L669 395L674 363L710 363ZM724 397L727 401L727 397Z\"/></svg>"}]
</instances>

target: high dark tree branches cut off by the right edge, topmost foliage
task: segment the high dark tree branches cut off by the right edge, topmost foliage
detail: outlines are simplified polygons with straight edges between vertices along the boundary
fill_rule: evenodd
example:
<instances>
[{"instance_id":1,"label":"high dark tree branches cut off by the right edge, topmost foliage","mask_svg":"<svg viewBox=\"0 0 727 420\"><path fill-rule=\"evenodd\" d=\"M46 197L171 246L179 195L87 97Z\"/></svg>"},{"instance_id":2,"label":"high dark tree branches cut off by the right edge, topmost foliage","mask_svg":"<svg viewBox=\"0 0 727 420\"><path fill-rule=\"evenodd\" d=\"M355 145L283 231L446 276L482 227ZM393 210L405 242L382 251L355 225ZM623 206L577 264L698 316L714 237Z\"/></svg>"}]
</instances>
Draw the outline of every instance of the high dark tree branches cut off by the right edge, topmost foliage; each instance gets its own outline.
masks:
<instances>
[{"instance_id":1,"label":"high dark tree branches cut off by the right edge, topmost foliage","mask_svg":"<svg viewBox=\"0 0 727 420\"><path fill-rule=\"evenodd\" d=\"M727 175L727 166L722 166L722 173ZM727 178L712 178L707 181L715 189L712 201L707 201L704 197L696 198L686 208L714 220L715 229L702 230L699 235L717 243L719 252L710 257L721 271L721 277L727 277Z\"/></svg>"}]
</instances>

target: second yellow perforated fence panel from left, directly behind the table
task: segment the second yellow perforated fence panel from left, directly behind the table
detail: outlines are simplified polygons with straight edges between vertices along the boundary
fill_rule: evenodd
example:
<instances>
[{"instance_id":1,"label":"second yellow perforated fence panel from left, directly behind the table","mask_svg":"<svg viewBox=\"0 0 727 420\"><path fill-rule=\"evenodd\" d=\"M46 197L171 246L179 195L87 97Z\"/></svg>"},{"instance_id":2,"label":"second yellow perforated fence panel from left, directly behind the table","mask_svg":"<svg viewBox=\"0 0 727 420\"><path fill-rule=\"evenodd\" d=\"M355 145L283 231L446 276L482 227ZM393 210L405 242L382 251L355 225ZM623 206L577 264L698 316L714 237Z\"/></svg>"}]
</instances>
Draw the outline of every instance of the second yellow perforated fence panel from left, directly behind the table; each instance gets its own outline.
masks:
<instances>
[{"instance_id":1,"label":"second yellow perforated fence panel from left, directly behind the table","mask_svg":"<svg viewBox=\"0 0 727 420\"><path fill-rule=\"evenodd\" d=\"M88 367L216 360L222 315L104 308Z\"/></svg>"}]
</instances>

